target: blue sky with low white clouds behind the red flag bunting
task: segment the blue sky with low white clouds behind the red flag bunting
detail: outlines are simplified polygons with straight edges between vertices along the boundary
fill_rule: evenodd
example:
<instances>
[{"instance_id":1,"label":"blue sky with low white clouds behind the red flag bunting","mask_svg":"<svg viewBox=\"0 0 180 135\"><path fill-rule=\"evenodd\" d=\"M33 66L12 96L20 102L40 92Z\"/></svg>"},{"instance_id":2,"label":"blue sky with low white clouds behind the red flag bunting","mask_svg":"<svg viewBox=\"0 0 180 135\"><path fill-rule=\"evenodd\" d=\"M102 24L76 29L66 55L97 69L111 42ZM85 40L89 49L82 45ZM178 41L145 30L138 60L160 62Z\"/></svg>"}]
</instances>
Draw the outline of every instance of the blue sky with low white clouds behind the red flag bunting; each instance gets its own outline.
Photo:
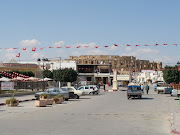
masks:
<instances>
[{"instance_id":1,"label":"blue sky with low white clouds behind the red flag bunting","mask_svg":"<svg viewBox=\"0 0 180 135\"><path fill-rule=\"evenodd\" d=\"M179 0L1 0L0 61L119 55L175 65L179 5Z\"/></svg>"}]
</instances>

